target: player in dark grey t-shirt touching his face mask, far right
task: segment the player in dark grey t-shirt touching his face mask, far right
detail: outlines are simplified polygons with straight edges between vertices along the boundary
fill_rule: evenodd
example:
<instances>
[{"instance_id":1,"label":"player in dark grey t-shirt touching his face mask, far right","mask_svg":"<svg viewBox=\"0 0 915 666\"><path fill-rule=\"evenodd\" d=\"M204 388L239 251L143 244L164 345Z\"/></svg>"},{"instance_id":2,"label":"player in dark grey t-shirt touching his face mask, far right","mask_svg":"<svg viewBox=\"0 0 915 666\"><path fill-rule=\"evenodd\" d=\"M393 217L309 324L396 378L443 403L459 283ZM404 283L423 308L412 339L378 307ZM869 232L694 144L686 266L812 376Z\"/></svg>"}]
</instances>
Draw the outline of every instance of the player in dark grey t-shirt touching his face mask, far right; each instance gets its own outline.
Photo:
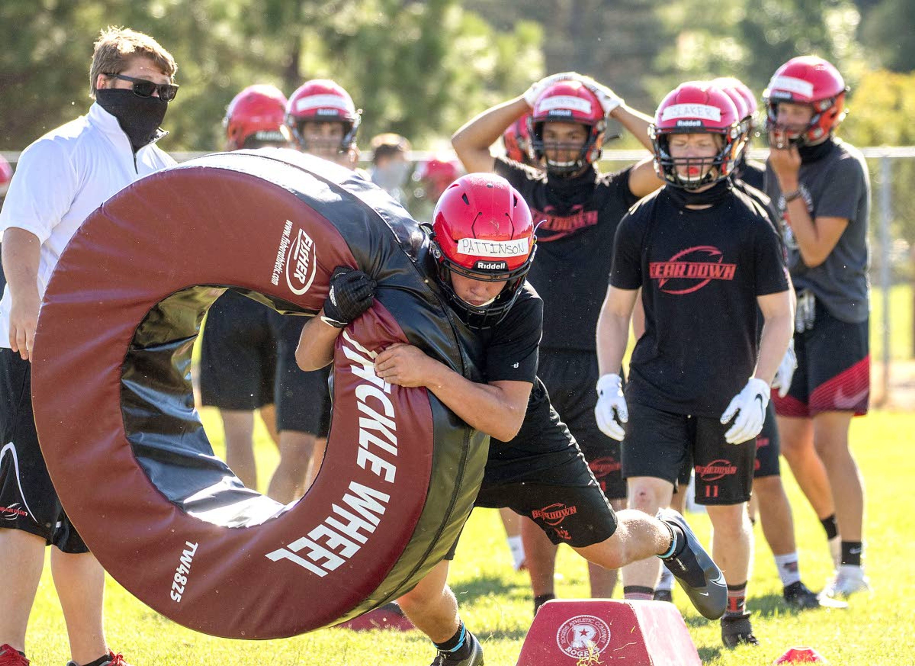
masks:
<instances>
[{"instance_id":1,"label":"player in dark grey t-shirt touching his face mask, far right","mask_svg":"<svg viewBox=\"0 0 915 666\"><path fill-rule=\"evenodd\" d=\"M840 542L825 596L870 589L862 566L864 482L848 446L851 419L867 414L870 395L870 182L864 156L834 138L847 91L832 64L803 56L776 70L763 93L766 193L780 212L798 295L798 367L788 394L773 400L781 452L827 539Z\"/></svg>"}]
</instances>

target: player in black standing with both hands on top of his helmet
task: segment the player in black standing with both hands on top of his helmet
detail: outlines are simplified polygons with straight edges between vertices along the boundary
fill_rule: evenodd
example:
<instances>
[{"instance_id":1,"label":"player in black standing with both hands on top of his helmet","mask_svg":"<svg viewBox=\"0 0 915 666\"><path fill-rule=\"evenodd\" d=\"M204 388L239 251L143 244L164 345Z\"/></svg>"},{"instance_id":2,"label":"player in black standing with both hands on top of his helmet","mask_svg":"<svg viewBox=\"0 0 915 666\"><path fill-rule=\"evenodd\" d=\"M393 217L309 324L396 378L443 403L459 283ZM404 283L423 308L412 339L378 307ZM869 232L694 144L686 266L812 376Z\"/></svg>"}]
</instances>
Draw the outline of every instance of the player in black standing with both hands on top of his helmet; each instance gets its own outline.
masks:
<instances>
[{"instance_id":1,"label":"player in black standing with both hands on top of his helmet","mask_svg":"<svg viewBox=\"0 0 915 666\"><path fill-rule=\"evenodd\" d=\"M490 154L490 145L525 114L530 114L529 155L543 168ZM619 510L626 501L619 444L600 432L594 417L594 332L600 295L593 285L607 280L619 220L662 183L651 158L615 173L598 172L608 115L651 148L651 118L630 109L606 86L575 72L546 77L523 95L480 113L458 130L452 145L468 171L494 171L507 178L534 218L545 220L537 230L540 250L529 276L544 299L538 374L601 488ZM524 523L536 612L554 598L555 547L543 532ZM617 572L597 565L589 568L591 596L611 596Z\"/></svg>"}]
</instances>

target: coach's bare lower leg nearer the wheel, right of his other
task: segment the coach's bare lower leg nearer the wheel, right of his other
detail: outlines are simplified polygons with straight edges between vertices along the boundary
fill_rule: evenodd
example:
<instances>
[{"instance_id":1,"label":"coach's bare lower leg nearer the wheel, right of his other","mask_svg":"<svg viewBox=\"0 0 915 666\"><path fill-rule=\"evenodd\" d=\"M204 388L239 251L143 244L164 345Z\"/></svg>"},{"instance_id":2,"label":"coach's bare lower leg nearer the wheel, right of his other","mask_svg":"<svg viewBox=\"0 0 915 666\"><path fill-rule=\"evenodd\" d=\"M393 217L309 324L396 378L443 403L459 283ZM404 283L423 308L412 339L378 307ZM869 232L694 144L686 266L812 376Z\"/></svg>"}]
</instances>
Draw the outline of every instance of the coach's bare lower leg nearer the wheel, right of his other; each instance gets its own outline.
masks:
<instances>
[{"instance_id":1,"label":"coach's bare lower leg nearer the wheel, right of his other","mask_svg":"<svg viewBox=\"0 0 915 666\"><path fill-rule=\"evenodd\" d=\"M108 654L102 628L105 572L92 553L63 553L51 548L51 574L67 624L70 655L86 664Z\"/></svg>"}]
</instances>

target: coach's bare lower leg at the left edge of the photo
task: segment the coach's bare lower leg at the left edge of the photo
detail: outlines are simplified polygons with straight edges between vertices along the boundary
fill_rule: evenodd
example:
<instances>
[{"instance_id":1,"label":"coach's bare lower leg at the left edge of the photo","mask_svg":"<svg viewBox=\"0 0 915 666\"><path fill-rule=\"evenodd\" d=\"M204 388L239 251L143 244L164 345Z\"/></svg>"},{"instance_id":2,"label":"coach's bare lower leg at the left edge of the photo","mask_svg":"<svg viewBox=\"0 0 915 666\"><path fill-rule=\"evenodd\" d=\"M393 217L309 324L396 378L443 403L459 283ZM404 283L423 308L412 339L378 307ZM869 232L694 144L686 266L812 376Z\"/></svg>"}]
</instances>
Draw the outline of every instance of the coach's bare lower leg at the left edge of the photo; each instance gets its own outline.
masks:
<instances>
[{"instance_id":1,"label":"coach's bare lower leg at the left edge of the photo","mask_svg":"<svg viewBox=\"0 0 915 666\"><path fill-rule=\"evenodd\" d=\"M26 650L26 627L45 564L45 540L23 530L0 529L0 563L16 572L4 582L0 645Z\"/></svg>"}]
</instances>

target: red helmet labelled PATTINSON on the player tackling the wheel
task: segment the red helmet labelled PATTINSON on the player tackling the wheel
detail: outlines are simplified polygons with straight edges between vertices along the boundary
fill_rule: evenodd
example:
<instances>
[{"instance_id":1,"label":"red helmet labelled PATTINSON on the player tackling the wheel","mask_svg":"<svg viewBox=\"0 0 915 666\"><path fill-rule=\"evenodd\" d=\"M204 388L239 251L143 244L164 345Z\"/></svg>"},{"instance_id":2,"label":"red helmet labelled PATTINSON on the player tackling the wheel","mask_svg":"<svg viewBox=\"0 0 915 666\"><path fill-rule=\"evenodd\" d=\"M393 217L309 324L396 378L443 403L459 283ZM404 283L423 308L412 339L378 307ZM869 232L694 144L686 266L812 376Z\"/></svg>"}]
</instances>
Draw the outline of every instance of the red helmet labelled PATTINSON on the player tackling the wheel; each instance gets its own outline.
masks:
<instances>
[{"instance_id":1,"label":"red helmet labelled PATTINSON on the player tackling the wheel","mask_svg":"<svg viewBox=\"0 0 915 666\"><path fill-rule=\"evenodd\" d=\"M495 326L508 313L531 269L536 243L531 209L505 178L468 174L448 186L432 220L432 255L448 298L468 326ZM455 293L452 273L507 282L495 300L473 306Z\"/></svg>"}]
</instances>

